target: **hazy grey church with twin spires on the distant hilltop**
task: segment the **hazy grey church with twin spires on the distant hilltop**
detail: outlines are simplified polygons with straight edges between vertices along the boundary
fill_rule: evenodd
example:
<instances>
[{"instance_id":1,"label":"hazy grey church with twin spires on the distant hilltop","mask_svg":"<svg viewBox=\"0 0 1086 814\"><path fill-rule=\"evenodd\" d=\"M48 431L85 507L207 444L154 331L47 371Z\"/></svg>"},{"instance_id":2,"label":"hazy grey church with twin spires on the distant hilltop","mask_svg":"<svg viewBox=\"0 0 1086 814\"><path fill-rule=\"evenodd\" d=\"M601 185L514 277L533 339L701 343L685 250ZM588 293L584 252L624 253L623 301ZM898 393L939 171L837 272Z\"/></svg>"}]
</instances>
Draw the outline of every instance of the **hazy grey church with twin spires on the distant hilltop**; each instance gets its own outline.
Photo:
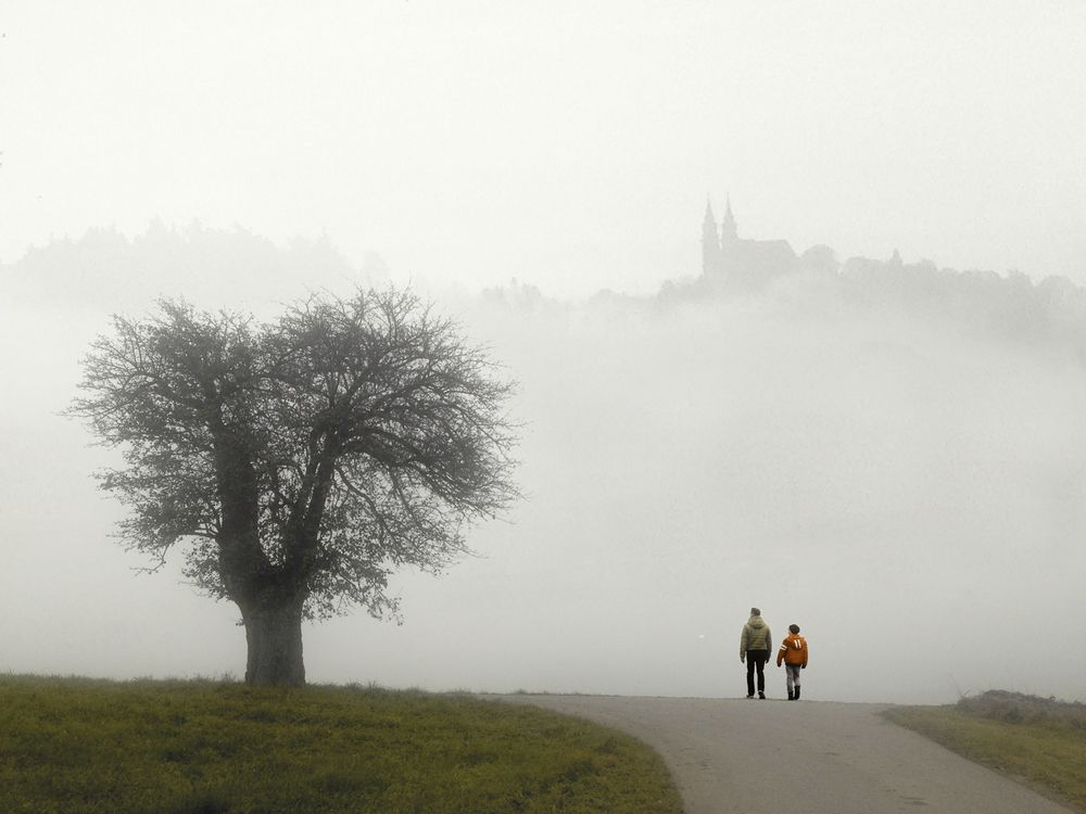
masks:
<instances>
[{"instance_id":1,"label":"hazy grey church with twin spires on the distant hilltop","mask_svg":"<svg viewBox=\"0 0 1086 814\"><path fill-rule=\"evenodd\" d=\"M798 270L796 253L786 240L747 240L738 236L732 202L717 227L712 203L705 203L702 224L702 279L714 288L759 289L781 275Z\"/></svg>"}]
</instances>

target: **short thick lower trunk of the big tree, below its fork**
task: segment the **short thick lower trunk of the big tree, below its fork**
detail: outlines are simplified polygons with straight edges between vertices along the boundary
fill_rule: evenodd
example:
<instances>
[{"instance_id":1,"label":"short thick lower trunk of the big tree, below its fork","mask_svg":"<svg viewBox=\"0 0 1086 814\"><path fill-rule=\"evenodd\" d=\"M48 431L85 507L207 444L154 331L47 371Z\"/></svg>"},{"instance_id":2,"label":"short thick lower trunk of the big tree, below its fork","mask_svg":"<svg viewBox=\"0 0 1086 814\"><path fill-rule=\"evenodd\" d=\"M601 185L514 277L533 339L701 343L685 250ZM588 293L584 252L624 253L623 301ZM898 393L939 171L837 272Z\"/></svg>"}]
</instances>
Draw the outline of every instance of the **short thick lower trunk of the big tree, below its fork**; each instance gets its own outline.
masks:
<instances>
[{"instance_id":1,"label":"short thick lower trunk of the big tree, below its fork","mask_svg":"<svg viewBox=\"0 0 1086 814\"><path fill-rule=\"evenodd\" d=\"M302 603L290 599L243 607L249 658L245 684L275 684L300 687L305 684L302 662Z\"/></svg>"}]
</instances>

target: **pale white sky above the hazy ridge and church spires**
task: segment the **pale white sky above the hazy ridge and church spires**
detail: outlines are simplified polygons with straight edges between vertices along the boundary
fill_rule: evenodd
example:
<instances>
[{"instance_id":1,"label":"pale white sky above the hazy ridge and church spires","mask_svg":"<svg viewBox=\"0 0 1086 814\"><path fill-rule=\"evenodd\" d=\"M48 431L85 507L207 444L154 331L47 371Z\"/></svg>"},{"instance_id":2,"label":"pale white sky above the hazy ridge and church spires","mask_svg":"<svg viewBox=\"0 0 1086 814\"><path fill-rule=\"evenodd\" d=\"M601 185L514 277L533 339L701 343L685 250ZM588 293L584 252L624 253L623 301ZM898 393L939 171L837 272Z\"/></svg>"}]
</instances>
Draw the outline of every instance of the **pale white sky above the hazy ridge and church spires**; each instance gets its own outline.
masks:
<instances>
[{"instance_id":1,"label":"pale white sky above the hazy ridge and church spires","mask_svg":"<svg viewBox=\"0 0 1086 814\"><path fill-rule=\"evenodd\" d=\"M470 288L741 233L1086 283L1086 3L5 2L0 259L155 217Z\"/></svg>"}]
</instances>

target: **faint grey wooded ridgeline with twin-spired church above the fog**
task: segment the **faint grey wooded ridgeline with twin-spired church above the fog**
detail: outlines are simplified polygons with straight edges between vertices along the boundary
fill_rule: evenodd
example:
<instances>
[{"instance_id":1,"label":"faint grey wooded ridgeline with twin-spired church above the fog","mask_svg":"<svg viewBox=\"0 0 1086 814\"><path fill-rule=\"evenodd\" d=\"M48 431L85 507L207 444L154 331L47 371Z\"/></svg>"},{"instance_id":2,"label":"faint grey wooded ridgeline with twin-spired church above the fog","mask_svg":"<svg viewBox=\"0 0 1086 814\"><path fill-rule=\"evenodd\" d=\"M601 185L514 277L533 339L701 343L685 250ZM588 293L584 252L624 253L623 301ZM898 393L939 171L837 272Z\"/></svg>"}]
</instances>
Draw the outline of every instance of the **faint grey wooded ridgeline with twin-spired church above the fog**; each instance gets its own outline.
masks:
<instances>
[{"instance_id":1,"label":"faint grey wooded ridgeline with twin-spired church above the fog","mask_svg":"<svg viewBox=\"0 0 1086 814\"><path fill-rule=\"evenodd\" d=\"M983 329L998 335L1069 342L1086 358L1086 289L1065 277L1039 282L1019 271L958 271L922 259L837 259L816 245L796 254L785 240L742 238L729 201L718 226L710 204L703 224L700 274L664 274L654 295L602 290L589 307L672 309L684 304L760 302L816 316L844 309L889 310ZM437 274L434 274L437 277ZM173 228L153 221L132 239L115 229L54 240L0 265L0 291L13 305L143 309L160 296L185 296L214 306L261 298L292 298L300 291L383 284L389 269L367 254L354 266L327 237L298 238L286 246L241 227L193 222ZM512 279L482 292L491 304L564 308L541 284Z\"/></svg>"}]
</instances>

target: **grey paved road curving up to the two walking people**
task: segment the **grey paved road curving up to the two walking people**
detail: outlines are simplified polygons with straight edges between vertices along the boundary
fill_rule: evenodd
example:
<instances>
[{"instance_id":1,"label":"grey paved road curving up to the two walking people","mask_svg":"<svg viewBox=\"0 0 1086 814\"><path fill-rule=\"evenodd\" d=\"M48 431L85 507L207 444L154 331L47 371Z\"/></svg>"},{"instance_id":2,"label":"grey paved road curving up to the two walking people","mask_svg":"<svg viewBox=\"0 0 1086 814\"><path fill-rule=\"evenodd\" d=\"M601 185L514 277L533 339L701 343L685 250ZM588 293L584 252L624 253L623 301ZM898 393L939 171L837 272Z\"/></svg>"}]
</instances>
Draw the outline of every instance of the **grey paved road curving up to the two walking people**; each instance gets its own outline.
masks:
<instances>
[{"instance_id":1,"label":"grey paved road curving up to the two walking people","mask_svg":"<svg viewBox=\"0 0 1086 814\"><path fill-rule=\"evenodd\" d=\"M1066 814L877 713L875 704L512 696L634 735L664 758L686 814Z\"/></svg>"}]
</instances>

